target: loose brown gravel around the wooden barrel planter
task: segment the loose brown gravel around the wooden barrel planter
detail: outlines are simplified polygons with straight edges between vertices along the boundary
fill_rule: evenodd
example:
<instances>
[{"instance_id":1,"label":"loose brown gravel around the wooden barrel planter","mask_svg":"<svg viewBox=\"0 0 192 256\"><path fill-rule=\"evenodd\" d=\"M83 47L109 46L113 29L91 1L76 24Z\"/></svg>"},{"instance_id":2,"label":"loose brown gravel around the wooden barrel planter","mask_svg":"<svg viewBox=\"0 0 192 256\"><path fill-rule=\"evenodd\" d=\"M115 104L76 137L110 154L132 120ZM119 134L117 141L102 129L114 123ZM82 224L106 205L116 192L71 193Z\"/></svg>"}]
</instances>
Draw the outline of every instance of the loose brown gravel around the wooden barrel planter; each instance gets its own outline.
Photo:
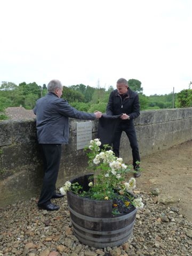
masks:
<instances>
[{"instance_id":1,"label":"loose brown gravel around the wooden barrel planter","mask_svg":"<svg viewBox=\"0 0 192 256\"><path fill-rule=\"evenodd\" d=\"M170 197L164 201L143 190L136 193L143 198L145 207L137 213L132 238L121 246L105 249L78 242L71 228L66 197L53 200L60 205L60 210L54 212L38 210L37 198L6 206L0 211L0 255L191 255L192 223L172 206Z\"/></svg>"}]
</instances>

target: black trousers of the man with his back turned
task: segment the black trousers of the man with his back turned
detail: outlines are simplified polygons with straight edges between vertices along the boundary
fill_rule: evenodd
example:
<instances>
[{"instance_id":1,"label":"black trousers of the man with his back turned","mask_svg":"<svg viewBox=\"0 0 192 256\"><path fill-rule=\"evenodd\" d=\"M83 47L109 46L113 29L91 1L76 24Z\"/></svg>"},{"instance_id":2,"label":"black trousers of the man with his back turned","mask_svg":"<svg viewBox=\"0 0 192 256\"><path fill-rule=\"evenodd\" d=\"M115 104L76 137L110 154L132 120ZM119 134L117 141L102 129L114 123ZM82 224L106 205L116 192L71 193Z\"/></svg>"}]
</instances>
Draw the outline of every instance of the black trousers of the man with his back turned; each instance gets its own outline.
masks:
<instances>
[{"instance_id":1,"label":"black trousers of the man with his back turned","mask_svg":"<svg viewBox=\"0 0 192 256\"><path fill-rule=\"evenodd\" d=\"M56 190L55 184L59 173L61 144L40 144L40 147L43 155L44 177L38 204L44 204L50 202Z\"/></svg>"}]
</instances>

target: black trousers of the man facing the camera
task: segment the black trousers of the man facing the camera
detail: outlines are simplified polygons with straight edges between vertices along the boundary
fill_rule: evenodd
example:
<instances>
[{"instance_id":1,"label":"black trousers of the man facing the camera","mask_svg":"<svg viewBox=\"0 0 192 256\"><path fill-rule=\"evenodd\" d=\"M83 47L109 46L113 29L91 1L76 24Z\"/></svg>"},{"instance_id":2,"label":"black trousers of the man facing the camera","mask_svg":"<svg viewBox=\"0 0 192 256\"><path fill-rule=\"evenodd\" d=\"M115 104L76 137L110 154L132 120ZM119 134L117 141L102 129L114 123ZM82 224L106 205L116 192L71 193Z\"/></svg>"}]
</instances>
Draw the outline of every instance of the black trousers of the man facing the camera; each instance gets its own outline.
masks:
<instances>
[{"instance_id":1,"label":"black trousers of the man facing the camera","mask_svg":"<svg viewBox=\"0 0 192 256\"><path fill-rule=\"evenodd\" d=\"M119 147L120 147L120 140L122 132L125 132L129 141L130 146L132 148L132 156L133 156L133 168L137 166L136 162L140 162L140 156L139 156L139 146L137 142L137 135L134 129L134 125L130 123L127 125L126 123L120 122L118 124L118 127L115 131L115 136L113 140L113 151L115 153L115 156L119 157Z\"/></svg>"}]
</instances>

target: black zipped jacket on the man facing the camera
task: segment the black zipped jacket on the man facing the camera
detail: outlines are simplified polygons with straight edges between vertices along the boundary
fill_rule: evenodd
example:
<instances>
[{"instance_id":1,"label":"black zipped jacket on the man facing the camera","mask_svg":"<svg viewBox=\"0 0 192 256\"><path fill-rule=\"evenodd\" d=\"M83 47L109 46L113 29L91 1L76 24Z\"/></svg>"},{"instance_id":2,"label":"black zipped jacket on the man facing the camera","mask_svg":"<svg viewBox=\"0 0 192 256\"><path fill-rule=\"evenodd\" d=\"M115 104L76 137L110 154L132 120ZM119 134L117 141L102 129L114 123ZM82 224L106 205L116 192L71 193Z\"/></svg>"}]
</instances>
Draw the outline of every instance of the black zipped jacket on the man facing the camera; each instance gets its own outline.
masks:
<instances>
[{"instance_id":1,"label":"black zipped jacket on the man facing the camera","mask_svg":"<svg viewBox=\"0 0 192 256\"><path fill-rule=\"evenodd\" d=\"M139 96L130 88L127 91L126 98L123 100L123 102L117 89L111 92L109 96L106 114L113 116L121 115L123 113L130 116L130 120L123 120L123 122L131 121L132 119L137 118L140 115Z\"/></svg>"}]
</instances>

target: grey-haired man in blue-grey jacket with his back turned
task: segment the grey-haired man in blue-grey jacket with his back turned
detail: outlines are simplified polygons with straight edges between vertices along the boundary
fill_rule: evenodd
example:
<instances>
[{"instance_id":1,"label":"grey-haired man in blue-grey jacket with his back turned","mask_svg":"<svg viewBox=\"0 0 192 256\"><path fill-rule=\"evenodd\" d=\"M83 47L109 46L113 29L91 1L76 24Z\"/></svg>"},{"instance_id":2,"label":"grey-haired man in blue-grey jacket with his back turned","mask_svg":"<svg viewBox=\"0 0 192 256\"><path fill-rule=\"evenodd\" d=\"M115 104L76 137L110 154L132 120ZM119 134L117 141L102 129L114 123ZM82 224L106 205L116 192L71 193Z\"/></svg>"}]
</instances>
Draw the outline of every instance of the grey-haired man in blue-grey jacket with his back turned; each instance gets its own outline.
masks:
<instances>
[{"instance_id":1,"label":"grey-haired man in blue-grey jacket with his back turned","mask_svg":"<svg viewBox=\"0 0 192 256\"><path fill-rule=\"evenodd\" d=\"M44 163L44 178L38 207L49 211L59 210L59 206L51 203L51 198L60 198L56 193L61 145L67 144L69 139L69 117L94 120L102 113L85 113L71 107L61 98L63 86L59 80L52 80L47 85L48 93L37 100L34 108L37 127L37 139L41 146Z\"/></svg>"}]
</instances>

